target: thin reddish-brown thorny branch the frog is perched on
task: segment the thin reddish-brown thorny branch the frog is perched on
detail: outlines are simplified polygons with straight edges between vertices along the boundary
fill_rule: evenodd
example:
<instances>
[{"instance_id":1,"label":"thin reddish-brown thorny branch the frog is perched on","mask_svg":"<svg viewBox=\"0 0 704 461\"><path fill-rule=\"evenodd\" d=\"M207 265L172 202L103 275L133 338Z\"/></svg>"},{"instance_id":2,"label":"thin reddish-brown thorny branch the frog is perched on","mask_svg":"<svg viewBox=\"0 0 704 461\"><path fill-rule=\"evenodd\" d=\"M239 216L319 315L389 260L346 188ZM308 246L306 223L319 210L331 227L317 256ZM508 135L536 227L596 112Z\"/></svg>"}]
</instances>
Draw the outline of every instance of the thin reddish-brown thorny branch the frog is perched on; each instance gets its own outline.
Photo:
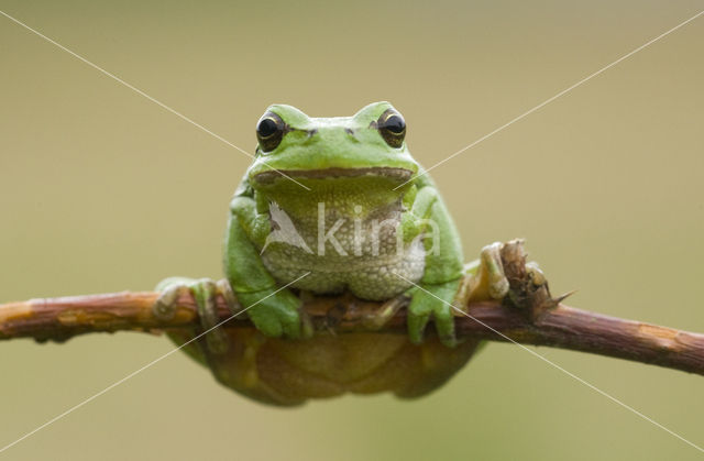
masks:
<instances>
[{"instance_id":1,"label":"thin reddish-brown thorny branch the frog is perched on","mask_svg":"<svg viewBox=\"0 0 704 461\"><path fill-rule=\"evenodd\" d=\"M152 311L157 296L152 292L117 293L0 305L0 339L66 340L97 331L158 332L198 325L193 297L182 296L176 314L168 320L161 320ZM217 303L221 319L227 319L230 312L224 300L218 298ZM305 303L304 310L317 331L344 333L369 330L370 314L380 306L380 303L350 296L315 297ZM468 314L473 318L457 318L461 338L506 341L502 337L504 334L521 344L610 355L704 375L702 333L603 316L561 304L536 319L516 307L495 301L472 303L468 306ZM405 309L400 309L378 331L404 333L405 316ZM234 318L227 325L242 327L249 325L249 320Z\"/></svg>"}]
</instances>

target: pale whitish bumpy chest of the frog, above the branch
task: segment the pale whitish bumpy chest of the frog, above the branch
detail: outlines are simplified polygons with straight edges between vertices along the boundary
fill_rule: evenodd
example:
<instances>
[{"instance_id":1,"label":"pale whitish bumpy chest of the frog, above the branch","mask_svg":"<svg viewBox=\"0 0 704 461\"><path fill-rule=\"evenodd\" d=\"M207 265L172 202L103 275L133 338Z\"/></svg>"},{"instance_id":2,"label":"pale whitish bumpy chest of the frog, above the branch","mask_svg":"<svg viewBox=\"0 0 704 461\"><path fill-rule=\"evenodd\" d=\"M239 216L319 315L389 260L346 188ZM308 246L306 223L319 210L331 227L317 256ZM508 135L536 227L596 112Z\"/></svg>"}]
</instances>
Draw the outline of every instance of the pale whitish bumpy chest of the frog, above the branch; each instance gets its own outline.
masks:
<instances>
[{"instance_id":1,"label":"pale whitish bumpy chest of the frog, above the branch","mask_svg":"<svg viewBox=\"0 0 704 461\"><path fill-rule=\"evenodd\" d=\"M310 272L293 286L318 294L348 289L355 296L372 300L392 298L413 286L410 282L420 281L425 270L425 248L420 239L408 243L397 240L399 209L386 209L356 224L332 210L326 213L321 234L329 232L340 219L342 224L332 234L338 245L332 239L319 243L317 218L294 219L302 240L297 244L277 241L266 245L262 253L264 265L280 284Z\"/></svg>"}]
</instances>

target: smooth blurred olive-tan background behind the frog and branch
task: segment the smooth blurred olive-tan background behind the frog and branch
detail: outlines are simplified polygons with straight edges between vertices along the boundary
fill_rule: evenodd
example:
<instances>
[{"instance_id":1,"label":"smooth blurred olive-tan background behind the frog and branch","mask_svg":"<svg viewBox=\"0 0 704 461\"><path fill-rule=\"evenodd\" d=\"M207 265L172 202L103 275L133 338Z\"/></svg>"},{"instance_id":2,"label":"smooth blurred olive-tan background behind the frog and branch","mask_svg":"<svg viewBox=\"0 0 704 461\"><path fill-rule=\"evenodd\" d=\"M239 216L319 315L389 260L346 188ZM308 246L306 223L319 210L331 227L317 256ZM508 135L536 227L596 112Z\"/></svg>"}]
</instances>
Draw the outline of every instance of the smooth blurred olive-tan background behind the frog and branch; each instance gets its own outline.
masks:
<instances>
[{"instance_id":1,"label":"smooth blurred olive-tan background behind the frog and branch","mask_svg":"<svg viewBox=\"0 0 704 461\"><path fill-rule=\"evenodd\" d=\"M242 3L242 4L241 4ZM272 102L386 99L426 165L701 10L697 1L0 1L253 151ZM465 255L525 237L574 306L704 331L704 18L433 171ZM0 300L220 275L249 158L0 18ZM172 349L138 333L0 344L4 446ZM704 443L704 378L538 349ZM515 345L426 398L273 409L175 354L8 459L689 460L700 452Z\"/></svg>"}]
</instances>

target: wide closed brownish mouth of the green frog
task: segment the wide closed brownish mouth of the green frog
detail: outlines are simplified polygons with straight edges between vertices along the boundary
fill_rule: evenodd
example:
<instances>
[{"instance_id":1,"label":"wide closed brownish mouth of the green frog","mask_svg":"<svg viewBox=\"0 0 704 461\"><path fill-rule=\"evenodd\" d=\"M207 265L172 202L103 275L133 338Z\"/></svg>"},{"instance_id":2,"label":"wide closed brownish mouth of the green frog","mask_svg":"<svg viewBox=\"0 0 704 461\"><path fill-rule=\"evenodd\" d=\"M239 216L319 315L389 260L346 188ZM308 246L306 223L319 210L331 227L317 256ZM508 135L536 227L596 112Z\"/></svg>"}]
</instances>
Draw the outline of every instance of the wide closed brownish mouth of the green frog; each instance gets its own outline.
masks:
<instances>
[{"instance_id":1,"label":"wide closed brownish mouth of the green frog","mask_svg":"<svg viewBox=\"0 0 704 461\"><path fill-rule=\"evenodd\" d=\"M399 183L405 183L413 176L414 172L406 168L398 168L393 166L371 166L364 168L320 168L320 169L272 169L268 172L262 172L254 175L254 179L260 184L272 184L276 179L284 178L286 176L290 178L304 178L304 179L331 179L343 177L386 177Z\"/></svg>"}]
</instances>

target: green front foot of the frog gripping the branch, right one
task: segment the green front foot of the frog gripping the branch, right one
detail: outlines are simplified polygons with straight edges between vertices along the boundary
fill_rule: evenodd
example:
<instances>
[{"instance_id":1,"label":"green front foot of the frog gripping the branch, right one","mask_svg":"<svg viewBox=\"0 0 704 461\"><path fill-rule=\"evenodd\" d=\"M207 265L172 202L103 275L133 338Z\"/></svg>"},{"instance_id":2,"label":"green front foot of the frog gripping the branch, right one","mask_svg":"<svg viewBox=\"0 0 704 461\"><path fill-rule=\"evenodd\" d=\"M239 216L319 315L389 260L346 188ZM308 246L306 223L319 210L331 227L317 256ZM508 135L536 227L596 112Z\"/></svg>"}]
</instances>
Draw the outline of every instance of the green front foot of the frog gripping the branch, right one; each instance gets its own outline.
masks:
<instances>
[{"instance_id":1,"label":"green front foot of the frog gripping the branch, right one","mask_svg":"<svg viewBox=\"0 0 704 461\"><path fill-rule=\"evenodd\" d=\"M454 310L461 279L441 284L420 284L411 288L408 306L408 337L418 344L422 342L424 331L432 318L440 342L454 347L458 341L454 334Z\"/></svg>"}]
</instances>

